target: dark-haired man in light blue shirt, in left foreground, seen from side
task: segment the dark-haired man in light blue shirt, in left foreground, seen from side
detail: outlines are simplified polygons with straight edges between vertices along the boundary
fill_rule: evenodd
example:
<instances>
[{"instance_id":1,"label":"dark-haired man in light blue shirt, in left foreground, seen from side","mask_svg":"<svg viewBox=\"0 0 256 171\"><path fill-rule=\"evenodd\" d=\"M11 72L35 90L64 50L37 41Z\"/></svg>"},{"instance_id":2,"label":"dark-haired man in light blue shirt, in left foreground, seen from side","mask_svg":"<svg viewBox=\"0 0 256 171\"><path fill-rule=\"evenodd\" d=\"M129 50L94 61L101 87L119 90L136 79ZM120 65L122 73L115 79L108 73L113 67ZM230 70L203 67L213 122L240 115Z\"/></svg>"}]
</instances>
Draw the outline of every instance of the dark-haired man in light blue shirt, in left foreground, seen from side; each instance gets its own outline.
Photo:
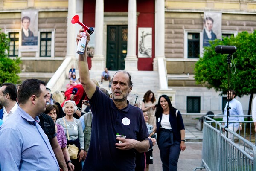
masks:
<instances>
[{"instance_id":1,"label":"dark-haired man in light blue shirt, in left foreground, seen from side","mask_svg":"<svg viewBox=\"0 0 256 171\"><path fill-rule=\"evenodd\" d=\"M47 135L38 124L38 115L45 111L49 100L44 81L24 81L17 100L17 110L0 128L1 170L59 171Z\"/></svg>"}]
</instances>

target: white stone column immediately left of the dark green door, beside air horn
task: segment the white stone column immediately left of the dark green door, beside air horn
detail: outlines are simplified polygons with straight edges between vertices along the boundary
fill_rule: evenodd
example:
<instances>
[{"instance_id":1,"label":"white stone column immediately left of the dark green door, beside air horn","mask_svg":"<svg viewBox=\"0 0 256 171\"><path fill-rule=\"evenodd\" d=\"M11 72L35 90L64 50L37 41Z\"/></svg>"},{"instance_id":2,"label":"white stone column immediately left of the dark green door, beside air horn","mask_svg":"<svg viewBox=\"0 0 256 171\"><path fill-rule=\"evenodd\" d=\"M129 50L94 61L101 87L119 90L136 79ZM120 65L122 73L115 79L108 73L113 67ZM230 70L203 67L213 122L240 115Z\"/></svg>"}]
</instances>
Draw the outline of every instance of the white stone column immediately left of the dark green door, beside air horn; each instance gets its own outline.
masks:
<instances>
[{"instance_id":1,"label":"white stone column immediately left of the dark green door, beside air horn","mask_svg":"<svg viewBox=\"0 0 256 171\"><path fill-rule=\"evenodd\" d=\"M96 0L95 7L95 50L92 58L91 70L104 70L105 58L103 56L103 24L104 0Z\"/></svg>"}]
</instances>

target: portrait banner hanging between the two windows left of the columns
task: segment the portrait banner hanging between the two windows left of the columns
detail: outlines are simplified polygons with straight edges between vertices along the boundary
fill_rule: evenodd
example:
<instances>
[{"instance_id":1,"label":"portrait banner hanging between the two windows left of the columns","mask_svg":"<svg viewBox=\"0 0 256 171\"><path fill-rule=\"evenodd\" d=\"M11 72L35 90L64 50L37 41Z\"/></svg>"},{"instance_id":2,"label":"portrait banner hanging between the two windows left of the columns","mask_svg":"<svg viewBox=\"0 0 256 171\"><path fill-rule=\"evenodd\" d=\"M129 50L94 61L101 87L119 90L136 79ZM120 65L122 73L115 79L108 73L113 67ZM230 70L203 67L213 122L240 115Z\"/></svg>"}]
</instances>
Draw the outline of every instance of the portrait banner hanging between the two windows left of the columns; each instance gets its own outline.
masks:
<instances>
[{"instance_id":1,"label":"portrait banner hanging between the two windows left of the columns","mask_svg":"<svg viewBox=\"0 0 256 171\"><path fill-rule=\"evenodd\" d=\"M38 11L21 12L21 52L38 51Z\"/></svg>"}]
</instances>

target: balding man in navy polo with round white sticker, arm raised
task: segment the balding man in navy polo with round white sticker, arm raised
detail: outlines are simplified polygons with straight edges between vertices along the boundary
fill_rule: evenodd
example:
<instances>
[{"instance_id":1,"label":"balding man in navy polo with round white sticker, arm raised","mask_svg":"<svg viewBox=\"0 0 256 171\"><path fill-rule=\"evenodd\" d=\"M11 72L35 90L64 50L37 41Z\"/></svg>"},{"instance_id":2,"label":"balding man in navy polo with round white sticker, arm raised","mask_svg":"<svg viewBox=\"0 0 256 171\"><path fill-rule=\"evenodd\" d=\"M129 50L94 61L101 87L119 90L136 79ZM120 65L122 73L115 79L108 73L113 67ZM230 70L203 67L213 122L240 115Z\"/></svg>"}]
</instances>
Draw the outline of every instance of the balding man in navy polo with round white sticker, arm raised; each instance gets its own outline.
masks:
<instances>
[{"instance_id":1,"label":"balding man in navy polo with round white sticker, arm raised","mask_svg":"<svg viewBox=\"0 0 256 171\"><path fill-rule=\"evenodd\" d=\"M77 42L81 36L78 35ZM87 33L86 46L89 41ZM111 79L110 99L91 81L86 52L79 55L78 67L93 113L91 142L83 171L134 171L136 151L148 151L149 142L142 110L127 101L132 90L131 75L126 71L116 72ZM116 138L117 134L126 138Z\"/></svg>"}]
</instances>

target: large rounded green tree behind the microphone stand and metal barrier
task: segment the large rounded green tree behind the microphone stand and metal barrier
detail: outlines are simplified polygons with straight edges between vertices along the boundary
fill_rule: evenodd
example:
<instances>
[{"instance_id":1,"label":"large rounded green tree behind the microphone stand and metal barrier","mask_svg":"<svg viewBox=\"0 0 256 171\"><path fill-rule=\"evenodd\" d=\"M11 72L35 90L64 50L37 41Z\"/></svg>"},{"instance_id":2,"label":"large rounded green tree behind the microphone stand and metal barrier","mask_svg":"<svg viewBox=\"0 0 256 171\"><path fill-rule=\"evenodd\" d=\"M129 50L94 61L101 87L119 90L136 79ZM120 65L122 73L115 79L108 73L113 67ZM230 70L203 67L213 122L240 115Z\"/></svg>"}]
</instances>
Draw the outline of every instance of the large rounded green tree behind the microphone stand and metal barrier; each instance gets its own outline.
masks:
<instances>
[{"instance_id":1,"label":"large rounded green tree behind the microphone stand and metal barrier","mask_svg":"<svg viewBox=\"0 0 256 171\"><path fill-rule=\"evenodd\" d=\"M202 84L209 89L214 88L226 94L228 89L227 54L217 54L215 46L236 46L237 51L231 56L229 88L235 90L239 97L250 95L249 115L253 94L256 92L256 32L241 32L236 37L212 41L210 45L204 48L203 58L195 64L196 84Z\"/></svg>"}]
</instances>

